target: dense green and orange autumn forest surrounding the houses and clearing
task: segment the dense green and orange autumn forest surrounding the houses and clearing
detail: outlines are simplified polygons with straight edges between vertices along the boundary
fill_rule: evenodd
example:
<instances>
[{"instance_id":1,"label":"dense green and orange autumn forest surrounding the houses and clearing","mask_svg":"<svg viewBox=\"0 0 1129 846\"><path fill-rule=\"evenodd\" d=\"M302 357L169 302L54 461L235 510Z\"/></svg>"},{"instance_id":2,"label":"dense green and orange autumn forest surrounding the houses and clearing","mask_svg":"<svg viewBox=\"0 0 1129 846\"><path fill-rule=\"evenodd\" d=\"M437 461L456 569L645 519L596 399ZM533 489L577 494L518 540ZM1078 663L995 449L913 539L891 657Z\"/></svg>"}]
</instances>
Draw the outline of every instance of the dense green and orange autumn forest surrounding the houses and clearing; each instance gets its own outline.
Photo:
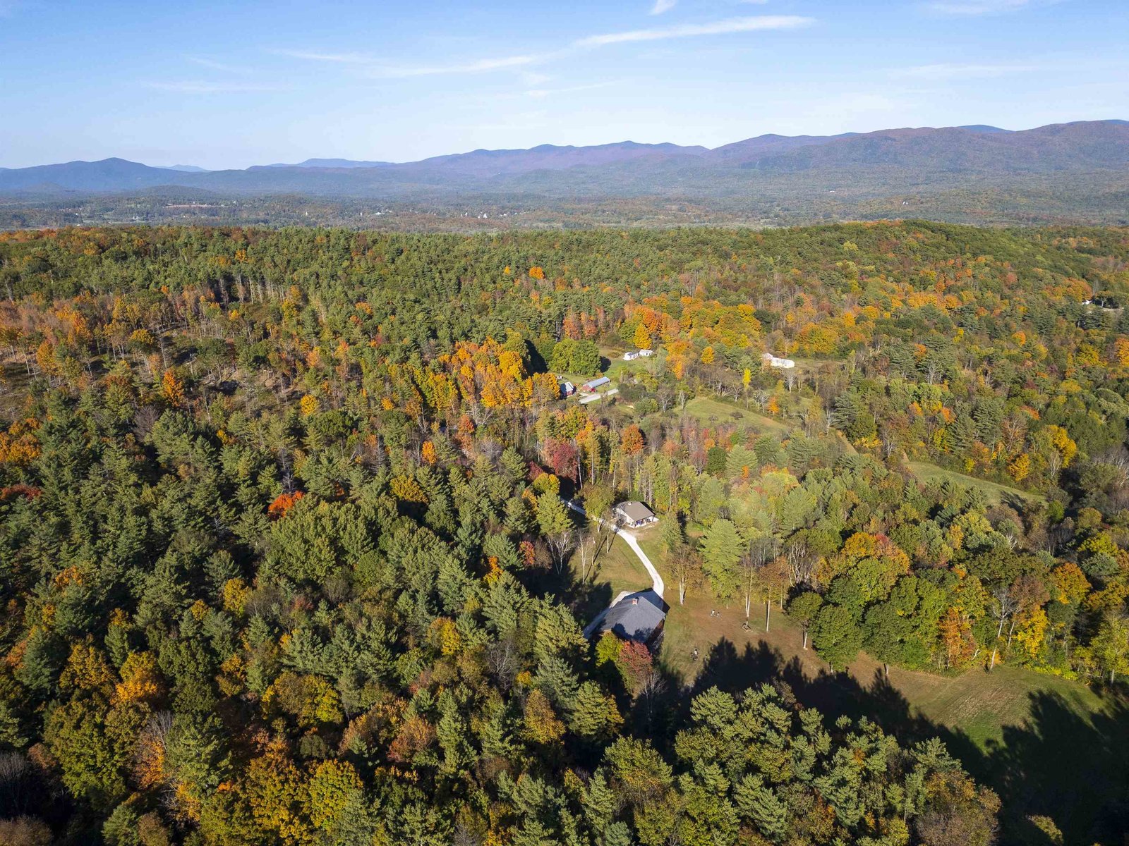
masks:
<instances>
[{"instance_id":1,"label":"dense green and orange autumn forest surrounding the houses and clearing","mask_svg":"<svg viewBox=\"0 0 1129 846\"><path fill-rule=\"evenodd\" d=\"M997 841L937 739L589 643L568 501L837 670L1129 672L1129 229L71 228L0 298L0 843Z\"/></svg>"}]
</instances>

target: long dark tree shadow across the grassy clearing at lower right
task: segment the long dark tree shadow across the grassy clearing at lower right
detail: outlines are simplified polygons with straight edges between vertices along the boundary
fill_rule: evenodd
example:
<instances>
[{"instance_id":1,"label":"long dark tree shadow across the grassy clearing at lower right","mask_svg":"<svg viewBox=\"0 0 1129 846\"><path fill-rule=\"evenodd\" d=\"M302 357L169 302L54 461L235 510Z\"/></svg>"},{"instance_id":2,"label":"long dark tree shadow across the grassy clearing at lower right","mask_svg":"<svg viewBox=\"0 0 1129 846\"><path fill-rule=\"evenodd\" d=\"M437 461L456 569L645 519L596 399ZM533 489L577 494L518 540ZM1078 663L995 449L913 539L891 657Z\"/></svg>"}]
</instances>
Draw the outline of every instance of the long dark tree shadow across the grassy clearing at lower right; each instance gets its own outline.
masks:
<instances>
[{"instance_id":1,"label":"long dark tree shadow across the grassy clearing at lower right","mask_svg":"<svg viewBox=\"0 0 1129 846\"><path fill-rule=\"evenodd\" d=\"M1117 691L1102 694L1103 710L1083 715L1062 696L1033 693L1024 725L1004 728L1003 741L974 743L968 734L914 713L882 671L869 685L842 672L806 673L761 642L744 651L728 640L702 662L691 694L710 687L739 693L761 684L786 685L796 703L839 716L867 717L902 744L940 738L964 768L1003 801L1000 844L1050 844L1027 821L1051 817L1067 846L1122 846L1129 831L1129 705Z\"/></svg>"}]
</instances>

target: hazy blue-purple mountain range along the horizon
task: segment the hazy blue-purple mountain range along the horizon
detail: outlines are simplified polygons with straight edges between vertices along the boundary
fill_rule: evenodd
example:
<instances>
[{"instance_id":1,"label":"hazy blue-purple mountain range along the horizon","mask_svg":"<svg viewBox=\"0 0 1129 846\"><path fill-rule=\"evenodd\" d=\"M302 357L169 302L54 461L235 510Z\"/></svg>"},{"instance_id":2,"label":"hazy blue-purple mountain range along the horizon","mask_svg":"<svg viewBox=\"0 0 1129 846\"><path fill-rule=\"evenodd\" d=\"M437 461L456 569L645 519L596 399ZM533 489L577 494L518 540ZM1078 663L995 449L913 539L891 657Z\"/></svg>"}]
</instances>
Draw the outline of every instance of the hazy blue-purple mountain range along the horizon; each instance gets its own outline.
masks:
<instances>
[{"instance_id":1,"label":"hazy blue-purple mountain range along the horizon","mask_svg":"<svg viewBox=\"0 0 1129 846\"><path fill-rule=\"evenodd\" d=\"M124 159L0 168L0 193L58 196L192 188L227 196L301 194L388 202L478 197L791 197L850 192L953 191L1040 180L1054 190L1129 173L1129 122L1084 121L1033 130L893 129L841 135L760 135L707 149L623 141L474 150L392 164L307 159L243 170L149 167ZM1083 178L1082 175L1086 175ZM1108 180L1106 180L1108 182ZM1086 187L1088 191L1089 187Z\"/></svg>"}]
</instances>

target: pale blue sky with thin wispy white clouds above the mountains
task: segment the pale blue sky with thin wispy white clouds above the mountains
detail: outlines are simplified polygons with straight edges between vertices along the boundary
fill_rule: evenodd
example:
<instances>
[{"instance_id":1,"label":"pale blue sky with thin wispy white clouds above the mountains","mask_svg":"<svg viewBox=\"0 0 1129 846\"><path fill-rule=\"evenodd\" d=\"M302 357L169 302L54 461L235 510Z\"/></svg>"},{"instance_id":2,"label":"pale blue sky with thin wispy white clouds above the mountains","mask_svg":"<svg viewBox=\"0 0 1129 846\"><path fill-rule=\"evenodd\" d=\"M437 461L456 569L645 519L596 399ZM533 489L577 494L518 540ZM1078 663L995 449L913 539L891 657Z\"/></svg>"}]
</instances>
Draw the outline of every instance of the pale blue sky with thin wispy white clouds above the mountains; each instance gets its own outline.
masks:
<instances>
[{"instance_id":1,"label":"pale blue sky with thin wispy white clouds above the mountains","mask_svg":"<svg viewBox=\"0 0 1129 846\"><path fill-rule=\"evenodd\" d=\"M0 167L1129 118L1127 0L0 0Z\"/></svg>"}]
</instances>

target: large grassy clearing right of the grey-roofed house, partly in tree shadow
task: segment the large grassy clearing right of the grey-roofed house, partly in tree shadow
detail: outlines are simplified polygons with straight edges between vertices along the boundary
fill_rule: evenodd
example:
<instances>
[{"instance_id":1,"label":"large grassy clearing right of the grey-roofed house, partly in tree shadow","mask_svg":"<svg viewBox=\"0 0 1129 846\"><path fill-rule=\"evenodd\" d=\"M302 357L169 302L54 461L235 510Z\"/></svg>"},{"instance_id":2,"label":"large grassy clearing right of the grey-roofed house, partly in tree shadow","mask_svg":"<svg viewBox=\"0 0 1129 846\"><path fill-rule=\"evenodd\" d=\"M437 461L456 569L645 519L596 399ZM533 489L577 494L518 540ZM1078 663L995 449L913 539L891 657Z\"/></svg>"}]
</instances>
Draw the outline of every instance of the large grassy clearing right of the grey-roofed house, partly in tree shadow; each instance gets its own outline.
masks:
<instances>
[{"instance_id":1,"label":"large grassy clearing right of the grey-roofed house, partly in tree shadow","mask_svg":"<svg viewBox=\"0 0 1129 846\"><path fill-rule=\"evenodd\" d=\"M679 606L657 532L644 547L667 578L660 660L688 695L784 680L800 704L830 719L867 716L903 741L940 737L973 776L1006 799L1005 845L1048 843L1029 830L1031 814L1051 816L1067 846L1122 843L1129 706L1121 693L1007 666L959 676L892 667L887 677L865 653L848 672L835 673L803 649L802 628L778 608L765 632L763 603L754 605L749 631L741 601L726 606L708 589L692 590Z\"/></svg>"}]
</instances>

